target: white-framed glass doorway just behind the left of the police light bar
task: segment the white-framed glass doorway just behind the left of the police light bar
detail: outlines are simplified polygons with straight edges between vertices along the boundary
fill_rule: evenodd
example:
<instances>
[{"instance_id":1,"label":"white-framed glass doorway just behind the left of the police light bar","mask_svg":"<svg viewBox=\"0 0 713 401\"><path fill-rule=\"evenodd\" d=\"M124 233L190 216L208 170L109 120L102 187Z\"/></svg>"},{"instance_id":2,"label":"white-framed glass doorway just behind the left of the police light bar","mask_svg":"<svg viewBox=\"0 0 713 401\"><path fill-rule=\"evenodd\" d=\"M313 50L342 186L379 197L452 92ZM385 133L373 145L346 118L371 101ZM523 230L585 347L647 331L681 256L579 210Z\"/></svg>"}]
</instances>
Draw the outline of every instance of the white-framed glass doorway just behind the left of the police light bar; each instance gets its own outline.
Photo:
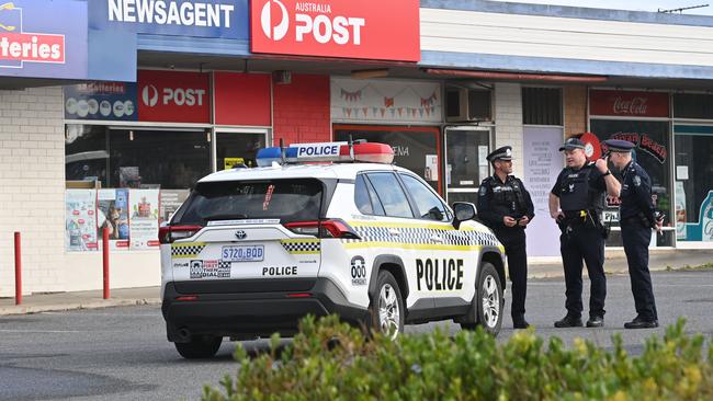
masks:
<instances>
[{"instance_id":1,"label":"white-framed glass doorway just behind the left of the police light bar","mask_svg":"<svg viewBox=\"0 0 713 401\"><path fill-rule=\"evenodd\" d=\"M265 147L267 141L267 129L216 129L215 170L233 169L239 164L257 167L256 154Z\"/></svg>"}]
</instances>

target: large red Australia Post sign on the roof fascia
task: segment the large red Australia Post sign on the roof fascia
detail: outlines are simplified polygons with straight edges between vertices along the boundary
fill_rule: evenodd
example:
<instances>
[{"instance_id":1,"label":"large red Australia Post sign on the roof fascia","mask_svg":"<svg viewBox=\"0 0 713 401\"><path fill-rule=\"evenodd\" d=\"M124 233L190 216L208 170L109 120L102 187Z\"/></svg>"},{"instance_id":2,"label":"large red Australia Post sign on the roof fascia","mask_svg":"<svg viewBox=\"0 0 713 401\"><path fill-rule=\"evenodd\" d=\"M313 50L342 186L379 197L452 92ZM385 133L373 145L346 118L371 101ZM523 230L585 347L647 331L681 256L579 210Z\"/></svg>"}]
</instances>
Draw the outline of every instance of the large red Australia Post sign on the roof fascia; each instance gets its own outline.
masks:
<instances>
[{"instance_id":1,"label":"large red Australia Post sign on the roof fascia","mask_svg":"<svg viewBox=\"0 0 713 401\"><path fill-rule=\"evenodd\" d=\"M252 0L252 53L419 61L419 0Z\"/></svg>"}]
</instances>

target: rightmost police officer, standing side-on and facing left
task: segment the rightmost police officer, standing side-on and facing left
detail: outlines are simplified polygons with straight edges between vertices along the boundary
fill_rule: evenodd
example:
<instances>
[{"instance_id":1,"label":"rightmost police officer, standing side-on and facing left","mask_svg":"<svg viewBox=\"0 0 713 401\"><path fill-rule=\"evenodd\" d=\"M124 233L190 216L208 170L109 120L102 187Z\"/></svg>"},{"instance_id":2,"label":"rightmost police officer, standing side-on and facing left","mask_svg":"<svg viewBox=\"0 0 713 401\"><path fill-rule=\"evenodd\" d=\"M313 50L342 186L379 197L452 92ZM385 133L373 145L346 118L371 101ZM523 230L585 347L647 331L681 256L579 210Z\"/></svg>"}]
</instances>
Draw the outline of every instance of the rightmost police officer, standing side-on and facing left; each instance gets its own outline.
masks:
<instances>
[{"instance_id":1,"label":"rightmost police officer, standing side-on and facing left","mask_svg":"<svg viewBox=\"0 0 713 401\"><path fill-rule=\"evenodd\" d=\"M648 243L652 239L652 229L660 232L664 218L655 217L648 174L632 160L631 152L634 144L618 139L609 139L604 144L611 152L612 164L622 172L621 236L636 306L636 318L624 323L624 328L658 328L654 289L648 273Z\"/></svg>"}]
</instances>

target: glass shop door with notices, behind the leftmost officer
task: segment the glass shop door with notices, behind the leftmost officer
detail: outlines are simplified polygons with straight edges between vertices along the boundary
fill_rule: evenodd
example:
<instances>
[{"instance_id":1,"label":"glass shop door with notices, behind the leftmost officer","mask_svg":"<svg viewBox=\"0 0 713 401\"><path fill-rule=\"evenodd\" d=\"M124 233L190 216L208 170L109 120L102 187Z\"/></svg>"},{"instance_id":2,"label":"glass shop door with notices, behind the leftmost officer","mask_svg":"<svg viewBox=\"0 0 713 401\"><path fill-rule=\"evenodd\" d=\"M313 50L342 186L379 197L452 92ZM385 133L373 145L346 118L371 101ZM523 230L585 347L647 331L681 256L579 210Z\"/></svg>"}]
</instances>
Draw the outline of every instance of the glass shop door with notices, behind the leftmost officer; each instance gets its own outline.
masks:
<instances>
[{"instance_id":1,"label":"glass shop door with notices, behind the leftmost officer","mask_svg":"<svg viewBox=\"0 0 713 401\"><path fill-rule=\"evenodd\" d=\"M445 196L454 202L478 202L480 181L489 175L489 127L445 128Z\"/></svg>"}]
</instances>

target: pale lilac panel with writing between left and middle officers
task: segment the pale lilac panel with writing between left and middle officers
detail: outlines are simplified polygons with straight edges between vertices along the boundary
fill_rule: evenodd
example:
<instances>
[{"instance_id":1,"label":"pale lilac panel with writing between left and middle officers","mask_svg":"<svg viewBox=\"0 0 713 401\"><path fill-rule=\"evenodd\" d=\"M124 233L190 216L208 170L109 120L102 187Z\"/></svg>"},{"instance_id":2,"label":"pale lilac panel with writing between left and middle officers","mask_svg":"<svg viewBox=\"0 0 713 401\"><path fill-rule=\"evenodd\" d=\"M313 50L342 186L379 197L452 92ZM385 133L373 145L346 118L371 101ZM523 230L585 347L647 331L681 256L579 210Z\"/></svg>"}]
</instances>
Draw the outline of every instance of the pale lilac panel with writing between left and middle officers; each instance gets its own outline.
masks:
<instances>
[{"instance_id":1,"label":"pale lilac panel with writing between left and middle officers","mask_svg":"<svg viewBox=\"0 0 713 401\"><path fill-rule=\"evenodd\" d=\"M550 218L548 199L550 191L564 167L558 151L563 141L562 128L525 127L523 139L523 182L535 210L535 218L527 230L528 255L557 256L559 228Z\"/></svg>"}]
</instances>

